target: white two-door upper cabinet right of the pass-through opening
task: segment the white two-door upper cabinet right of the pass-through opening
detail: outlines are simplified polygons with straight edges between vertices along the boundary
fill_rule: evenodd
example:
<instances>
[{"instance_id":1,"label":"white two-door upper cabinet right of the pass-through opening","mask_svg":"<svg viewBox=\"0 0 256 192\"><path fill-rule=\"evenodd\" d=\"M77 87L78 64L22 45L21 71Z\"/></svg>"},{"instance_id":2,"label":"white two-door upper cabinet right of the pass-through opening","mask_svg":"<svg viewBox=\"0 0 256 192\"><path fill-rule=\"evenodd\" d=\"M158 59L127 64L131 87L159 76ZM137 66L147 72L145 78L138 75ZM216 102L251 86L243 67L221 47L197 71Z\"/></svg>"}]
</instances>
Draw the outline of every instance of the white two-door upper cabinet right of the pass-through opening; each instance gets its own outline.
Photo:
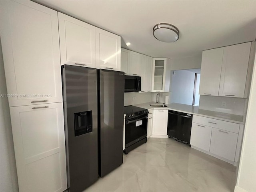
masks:
<instances>
[{"instance_id":1,"label":"white two-door upper cabinet right of the pass-through opening","mask_svg":"<svg viewBox=\"0 0 256 192\"><path fill-rule=\"evenodd\" d=\"M203 51L199 94L247 97L251 46L247 42Z\"/></svg>"}]
</instances>

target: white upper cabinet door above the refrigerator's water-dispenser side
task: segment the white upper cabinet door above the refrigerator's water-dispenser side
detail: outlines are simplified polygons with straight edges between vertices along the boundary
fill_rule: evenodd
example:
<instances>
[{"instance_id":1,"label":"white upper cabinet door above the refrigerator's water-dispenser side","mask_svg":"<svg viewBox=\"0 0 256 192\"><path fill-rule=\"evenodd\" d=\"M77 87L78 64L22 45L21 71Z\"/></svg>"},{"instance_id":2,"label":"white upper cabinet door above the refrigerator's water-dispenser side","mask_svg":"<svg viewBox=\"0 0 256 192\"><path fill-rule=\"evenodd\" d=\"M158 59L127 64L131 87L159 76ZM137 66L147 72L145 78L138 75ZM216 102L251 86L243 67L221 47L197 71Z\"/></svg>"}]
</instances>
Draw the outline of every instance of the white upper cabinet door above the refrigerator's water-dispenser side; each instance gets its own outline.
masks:
<instances>
[{"instance_id":1,"label":"white upper cabinet door above the refrigerator's water-dispenser side","mask_svg":"<svg viewBox=\"0 0 256 192\"><path fill-rule=\"evenodd\" d=\"M95 27L58 12L61 64L96 68Z\"/></svg>"}]
</instances>

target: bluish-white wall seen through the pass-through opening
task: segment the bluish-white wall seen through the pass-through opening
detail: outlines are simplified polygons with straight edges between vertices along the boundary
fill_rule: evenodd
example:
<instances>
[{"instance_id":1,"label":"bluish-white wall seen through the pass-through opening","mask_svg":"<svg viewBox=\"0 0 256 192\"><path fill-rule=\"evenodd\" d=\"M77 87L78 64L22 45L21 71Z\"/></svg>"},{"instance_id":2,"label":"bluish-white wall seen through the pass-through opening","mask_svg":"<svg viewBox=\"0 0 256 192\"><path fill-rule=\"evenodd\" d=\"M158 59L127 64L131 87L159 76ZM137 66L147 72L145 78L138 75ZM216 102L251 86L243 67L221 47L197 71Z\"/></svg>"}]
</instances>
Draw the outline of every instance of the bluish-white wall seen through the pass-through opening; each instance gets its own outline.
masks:
<instances>
[{"instance_id":1,"label":"bluish-white wall seen through the pass-through opening","mask_svg":"<svg viewBox=\"0 0 256 192\"><path fill-rule=\"evenodd\" d=\"M194 94L195 73L177 70L172 75L172 91L170 103L192 105Z\"/></svg>"}]
</instances>

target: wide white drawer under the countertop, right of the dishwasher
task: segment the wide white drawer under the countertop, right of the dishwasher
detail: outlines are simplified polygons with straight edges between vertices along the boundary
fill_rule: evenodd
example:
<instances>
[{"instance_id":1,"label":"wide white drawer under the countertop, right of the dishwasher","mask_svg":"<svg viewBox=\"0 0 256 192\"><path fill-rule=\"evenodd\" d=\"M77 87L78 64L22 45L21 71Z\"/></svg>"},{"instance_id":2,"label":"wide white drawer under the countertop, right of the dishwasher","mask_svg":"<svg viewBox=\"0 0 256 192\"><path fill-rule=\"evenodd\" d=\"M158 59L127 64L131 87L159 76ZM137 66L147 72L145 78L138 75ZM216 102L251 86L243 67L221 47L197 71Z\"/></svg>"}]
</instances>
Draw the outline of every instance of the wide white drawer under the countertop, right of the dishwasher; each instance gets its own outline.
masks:
<instances>
[{"instance_id":1,"label":"wide white drawer under the countertop, right of the dishwasher","mask_svg":"<svg viewBox=\"0 0 256 192\"><path fill-rule=\"evenodd\" d=\"M202 116L196 116L196 115L193 116L192 122L219 128L219 129L234 132L234 133L239 132L239 126L240 126L240 124L237 124L237 123L232 123L228 121L222 121L222 120L217 120L217 119L212 119L212 118L207 118Z\"/></svg>"}]
</instances>

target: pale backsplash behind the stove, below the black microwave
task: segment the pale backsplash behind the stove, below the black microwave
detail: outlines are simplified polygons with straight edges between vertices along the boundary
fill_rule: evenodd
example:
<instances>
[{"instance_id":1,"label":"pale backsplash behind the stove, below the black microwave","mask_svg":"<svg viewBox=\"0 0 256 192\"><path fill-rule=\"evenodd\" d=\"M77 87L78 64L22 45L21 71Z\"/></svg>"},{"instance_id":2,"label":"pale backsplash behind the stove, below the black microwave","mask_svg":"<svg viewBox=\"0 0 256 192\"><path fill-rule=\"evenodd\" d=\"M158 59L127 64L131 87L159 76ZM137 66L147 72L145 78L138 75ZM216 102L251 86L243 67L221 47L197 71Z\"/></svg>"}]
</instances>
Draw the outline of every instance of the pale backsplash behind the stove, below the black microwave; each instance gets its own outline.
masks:
<instances>
[{"instance_id":1,"label":"pale backsplash behind the stove, below the black microwave","mask_svg":"<svg viewBox=\"0 0 256 192\"><path fill-rule=\"evenodd\" d=\"M135 98L134 98L135 97ZM124 93L124 106L152 101L152 93L130 92Z\"/></svg>"}]
</instances>

